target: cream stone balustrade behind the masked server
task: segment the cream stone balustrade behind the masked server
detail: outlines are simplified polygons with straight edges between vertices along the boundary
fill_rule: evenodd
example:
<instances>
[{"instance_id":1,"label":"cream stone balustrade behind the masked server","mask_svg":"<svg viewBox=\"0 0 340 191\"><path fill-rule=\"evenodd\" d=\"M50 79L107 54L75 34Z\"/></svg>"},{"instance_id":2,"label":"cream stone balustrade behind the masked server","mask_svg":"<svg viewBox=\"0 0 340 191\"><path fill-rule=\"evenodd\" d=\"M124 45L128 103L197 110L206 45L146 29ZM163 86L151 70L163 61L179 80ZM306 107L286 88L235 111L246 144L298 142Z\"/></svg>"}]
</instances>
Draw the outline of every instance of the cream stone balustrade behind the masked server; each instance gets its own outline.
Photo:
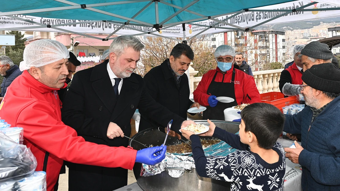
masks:
<instances>
[{"instance_id":1,"label":"cream stone balustrade behind the masked server","mask_svg":"<svg viewBox=\"0 0 340 191\"><path fill-rule=\"evenodd\" d=\"M277 70L263 70L263 71L254 71L254 80L257 86L257 90L261 93L267 92L279 92L280 89L278 87L280 80L280 75L283 69ZM197 74L197 73L196 73ZM198 83L201 81L202 77L193 77L191 80L191 72L190 72L190 88L193 87L196 89Z\"/></svg>"}]
</instances>

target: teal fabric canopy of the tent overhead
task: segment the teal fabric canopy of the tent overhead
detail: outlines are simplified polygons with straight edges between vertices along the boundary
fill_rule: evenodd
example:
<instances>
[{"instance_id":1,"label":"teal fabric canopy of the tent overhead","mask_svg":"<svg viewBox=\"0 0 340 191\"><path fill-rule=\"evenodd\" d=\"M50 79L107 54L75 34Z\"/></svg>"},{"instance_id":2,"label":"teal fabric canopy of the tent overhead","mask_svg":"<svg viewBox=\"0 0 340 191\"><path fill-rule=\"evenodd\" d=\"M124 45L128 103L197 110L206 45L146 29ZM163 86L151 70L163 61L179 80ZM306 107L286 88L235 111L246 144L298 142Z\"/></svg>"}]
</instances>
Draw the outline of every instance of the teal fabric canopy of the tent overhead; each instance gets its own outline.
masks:
<instances>
[{"instance_id":1,"label":"teal fabric canopy of the tent overhead","mask_svg":"<svg viewBox=\"0 0 340 191\"><path fill-rule=\"evenodd\" d=\"M116 2L124 0L69 0L69 2L77 4L95 4L95 3L105 3L105 2ZM125 0L129 1L129 0ZM138 0L136 0L138 1ZM248 8L256 8L267 5L279 4L290 2L293 0L200 0L188 8L190 11L197 12L205 16L215 16L228 14L235 11L240 11ZM99 9L101 11L113 13L116 15L131 18L135 15L142 7L147 5L150 1L126 3L119 5L107 5L107 6L97 6L92 7ZM180 7L184 7L191 2L191 0L173 0L173 1L163 1L170 4L174 4ZM45 9L53 7L66 7L71 6L62 2L54 0L7 0L2 1L0 6L0 12L12 12L12 11L23 11L31 9ZM163 3L158 3L159 10L159 22L162 22L172 14L174 14L179 9L165 5ZM47 18L57 18L57 19L76 19L76 20L112 20L125 22L125 19L113 17L110 15L104 15L102 13L97 13L87 9L77 8L69 10L60 11L49 11L49 12L39 12L39 13L27 13L24 15L36 16L36 17L47 17ZM165 24L188 21L191 19L198 19L200 16L194 15L188 12L182 12L179 15L173 17ZM155 3L151 4L146 8L141 14L139 14L136 20L147 22L150 24L156 24L155 19ZM205 19L202 19L205 20Z\"/></svg>"}]
</instances>

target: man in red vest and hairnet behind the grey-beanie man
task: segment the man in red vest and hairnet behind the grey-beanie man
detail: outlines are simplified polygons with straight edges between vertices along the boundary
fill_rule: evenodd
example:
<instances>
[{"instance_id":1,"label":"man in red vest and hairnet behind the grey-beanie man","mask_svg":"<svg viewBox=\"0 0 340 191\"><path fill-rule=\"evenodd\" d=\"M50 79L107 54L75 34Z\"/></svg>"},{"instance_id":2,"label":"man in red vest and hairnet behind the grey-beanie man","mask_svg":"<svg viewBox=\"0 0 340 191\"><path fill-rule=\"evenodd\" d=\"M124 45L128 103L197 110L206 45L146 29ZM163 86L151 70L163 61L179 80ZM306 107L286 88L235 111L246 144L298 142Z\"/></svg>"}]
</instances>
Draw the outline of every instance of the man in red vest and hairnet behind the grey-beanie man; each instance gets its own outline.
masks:
<instances>
[{"instance_id":1,"label":"man in red vest and hairnet behind the grey-beanie man","mask_svg":"<svg viewBox=\"0 0 340 191\"><path fill-rule=\"evenodd\" d=\"M296 44L293 46L293 55L294 55L294 63L289 66L287 69L281 72L280 80L279 80L279 89L286 96L295 95L295 92L291 92L290 90L294 90L297 85L302 84L302 73L303 73L303 65L301 58L299 55L301 54L301 50L305 47L303 44ZM299 94L296 94L299 95Z\"/></svg>"}]
</instances>

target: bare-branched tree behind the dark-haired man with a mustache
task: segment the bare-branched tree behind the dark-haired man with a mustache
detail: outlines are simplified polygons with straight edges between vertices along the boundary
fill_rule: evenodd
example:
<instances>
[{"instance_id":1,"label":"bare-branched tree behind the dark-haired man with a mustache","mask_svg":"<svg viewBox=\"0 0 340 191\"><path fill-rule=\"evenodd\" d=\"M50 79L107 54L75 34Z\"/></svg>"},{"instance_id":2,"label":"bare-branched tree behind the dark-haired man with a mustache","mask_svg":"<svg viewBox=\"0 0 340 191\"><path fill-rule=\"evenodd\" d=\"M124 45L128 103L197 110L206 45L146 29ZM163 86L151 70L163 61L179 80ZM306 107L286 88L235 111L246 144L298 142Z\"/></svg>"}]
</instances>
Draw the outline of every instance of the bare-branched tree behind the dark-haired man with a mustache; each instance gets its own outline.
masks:
<instances>
[{"instance_id":1,"label":"bare-branched tree behind the dark-haired man with a mustache","mask_svg":"<svg viewBox=\"0 0 340 191\"><path fill-rule=\"evenodd\" d=\"M177 39L182 40L181 38ZM214 50L208 46L208 40L206 35L202 35L188 41L188 45L195 54L192 67L199 71L197 76L202 76L207 71L216 68ZM169 58L172 48L178 43L161 37L142 37L140 41L145 45L145 49L140 55L141 63L137 65L136 69L141 76Z\"/></svg>"}]
</instances>

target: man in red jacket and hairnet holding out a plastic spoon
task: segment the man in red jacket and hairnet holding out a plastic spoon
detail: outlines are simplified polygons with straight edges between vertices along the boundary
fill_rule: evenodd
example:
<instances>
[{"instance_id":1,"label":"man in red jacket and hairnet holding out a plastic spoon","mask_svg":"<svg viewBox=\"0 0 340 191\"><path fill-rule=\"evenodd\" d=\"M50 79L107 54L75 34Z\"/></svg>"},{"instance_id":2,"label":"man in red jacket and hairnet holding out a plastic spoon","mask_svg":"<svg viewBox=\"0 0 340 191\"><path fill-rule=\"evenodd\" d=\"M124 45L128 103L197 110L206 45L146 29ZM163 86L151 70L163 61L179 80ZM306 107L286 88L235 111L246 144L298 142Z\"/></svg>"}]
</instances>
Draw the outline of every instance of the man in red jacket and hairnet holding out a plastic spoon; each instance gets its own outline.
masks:
<instances>
[{"instance_id":1,"label":"man in red jacket and hairnet holding out a plastic spoon","mask_svg":"<svg viewBox=\"0 0 340 191\"><path fill-rule=\"evenodd\" d=\"M37 159L36 171L46 171L47 191L54 190L64 160L125 169L132 169L135 162L153 165L162 161L166 146L136 151L97 145L62 122L57 91L67 85L67 58L69 52L60 42L44 39L30 43L20 63L23 73L0 104L0 117L12 127L23 128L24 145Z\"/></svg>"}]
</instances>

